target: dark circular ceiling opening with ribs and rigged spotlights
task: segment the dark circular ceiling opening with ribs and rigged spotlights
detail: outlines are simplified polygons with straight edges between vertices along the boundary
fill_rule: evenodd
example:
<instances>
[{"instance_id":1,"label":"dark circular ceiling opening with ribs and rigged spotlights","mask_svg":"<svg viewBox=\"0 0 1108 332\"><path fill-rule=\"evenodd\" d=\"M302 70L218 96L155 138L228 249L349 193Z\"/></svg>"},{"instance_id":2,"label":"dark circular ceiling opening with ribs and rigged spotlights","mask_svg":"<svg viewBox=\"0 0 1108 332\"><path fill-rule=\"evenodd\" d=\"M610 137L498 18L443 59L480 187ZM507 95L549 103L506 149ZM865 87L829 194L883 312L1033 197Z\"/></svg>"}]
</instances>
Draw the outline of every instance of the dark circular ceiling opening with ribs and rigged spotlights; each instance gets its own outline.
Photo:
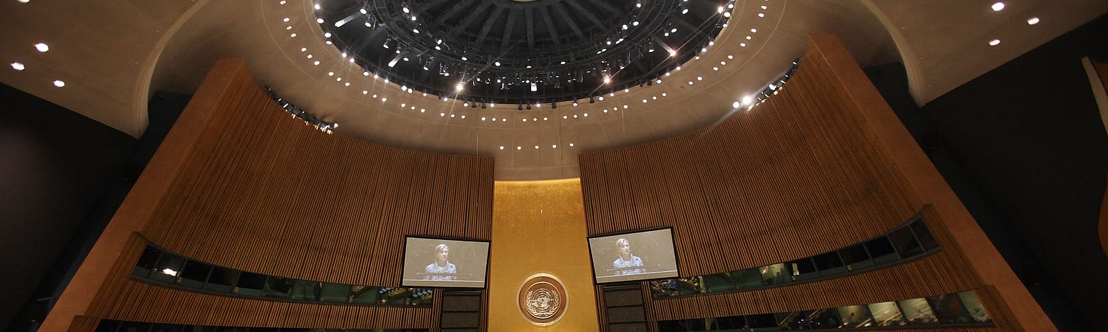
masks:
<instances>
[{"instance_id":1,"label":"dark circular ceiling opening with ribs and rigged spotlights","mask_svg":"<svg viewBox=\"0 0 1108 332\"><path fill-rule=\"evenodd\" d=\"M733 0L322 0L351 62L402 87L531 105L650 85L726 27Z\"/></svg>"}]
</instances>

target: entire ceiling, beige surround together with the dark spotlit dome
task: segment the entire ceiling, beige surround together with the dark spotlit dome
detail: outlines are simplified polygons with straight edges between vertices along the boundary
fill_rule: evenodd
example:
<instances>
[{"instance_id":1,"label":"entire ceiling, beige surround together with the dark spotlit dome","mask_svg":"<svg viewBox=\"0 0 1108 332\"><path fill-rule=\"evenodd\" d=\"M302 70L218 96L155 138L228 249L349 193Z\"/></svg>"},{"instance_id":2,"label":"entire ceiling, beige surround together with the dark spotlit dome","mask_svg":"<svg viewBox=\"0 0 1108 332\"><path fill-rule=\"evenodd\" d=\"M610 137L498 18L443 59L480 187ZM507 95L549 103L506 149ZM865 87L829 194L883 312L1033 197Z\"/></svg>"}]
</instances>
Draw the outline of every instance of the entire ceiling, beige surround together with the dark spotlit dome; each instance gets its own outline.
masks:
<instances>
[{"instance_id":1,"label":"entire ceiling, beige surround together with the dark spotlit dome","mask_svg":"<svg viewBox=\"0 0 1108 332\"><path fill-rule=\"evenodd\" d=\"M902 61L923 104L1108 12L994 2L0 1L0 82L137 137L154 91L193 93L242 56L334 135L492 156L497 179L568 178L581 153L758 112L742 101L779 84L809 33L839 35L863 68Z\"/></svg>"}]
</instances>

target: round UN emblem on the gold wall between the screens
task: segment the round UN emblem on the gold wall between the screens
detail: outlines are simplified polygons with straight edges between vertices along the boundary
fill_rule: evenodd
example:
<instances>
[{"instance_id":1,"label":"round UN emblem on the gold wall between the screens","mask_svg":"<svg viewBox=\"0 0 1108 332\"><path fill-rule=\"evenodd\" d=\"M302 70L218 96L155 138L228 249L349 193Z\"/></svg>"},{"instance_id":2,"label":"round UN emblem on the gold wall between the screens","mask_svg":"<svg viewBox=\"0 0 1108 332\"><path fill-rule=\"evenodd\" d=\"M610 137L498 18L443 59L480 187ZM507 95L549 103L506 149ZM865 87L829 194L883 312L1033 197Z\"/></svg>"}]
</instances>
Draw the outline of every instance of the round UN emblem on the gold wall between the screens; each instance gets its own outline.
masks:
<instances>
[{"instance_id":1,"label":"round UN emblem on the gold wall between the screens","mask_svg":"<svg viewBox=\"0 0 1108 332\"><path fill-rule=\"evenodd\" d=\"M548 273L535 273L520 284L520 313L535 325L551 325L562 319L570 297L562 280Z\"/></svg>"}]
</instances>

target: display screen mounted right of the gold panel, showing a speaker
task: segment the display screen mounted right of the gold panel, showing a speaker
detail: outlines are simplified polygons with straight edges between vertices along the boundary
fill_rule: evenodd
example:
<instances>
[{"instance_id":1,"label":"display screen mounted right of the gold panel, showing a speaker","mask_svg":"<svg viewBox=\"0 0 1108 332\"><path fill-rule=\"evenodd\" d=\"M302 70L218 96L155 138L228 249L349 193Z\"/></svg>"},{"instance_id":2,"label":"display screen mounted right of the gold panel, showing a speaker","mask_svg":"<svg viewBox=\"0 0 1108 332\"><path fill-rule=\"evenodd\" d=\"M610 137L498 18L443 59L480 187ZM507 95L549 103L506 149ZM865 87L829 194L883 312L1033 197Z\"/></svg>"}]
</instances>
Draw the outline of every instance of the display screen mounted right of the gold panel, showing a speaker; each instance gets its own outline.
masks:
<instances>
[{"instance_id":1,"label":"display screen mounted right of the gold panel, showing a speaker","mask_svg":"<svg viewBox=\"0 0 1108 332\"><path fill-rule=\"evenodd\" d=\"M597 283L677 277L673 229L588 238Z\"/></svg>"}]
</instances>

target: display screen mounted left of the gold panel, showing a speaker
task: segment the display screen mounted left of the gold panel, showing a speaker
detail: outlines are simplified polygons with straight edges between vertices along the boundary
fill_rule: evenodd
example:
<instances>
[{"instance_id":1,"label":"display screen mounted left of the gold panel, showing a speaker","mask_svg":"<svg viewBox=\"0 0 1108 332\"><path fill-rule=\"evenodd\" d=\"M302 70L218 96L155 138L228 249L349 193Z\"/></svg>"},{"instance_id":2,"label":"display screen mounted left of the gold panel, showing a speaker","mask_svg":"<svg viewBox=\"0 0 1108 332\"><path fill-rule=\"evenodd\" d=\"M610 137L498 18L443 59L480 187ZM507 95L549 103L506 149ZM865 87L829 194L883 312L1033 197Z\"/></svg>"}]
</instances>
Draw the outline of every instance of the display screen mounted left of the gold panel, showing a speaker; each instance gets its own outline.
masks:
<instances>
[{"instance_id":1,"label":"display screen mounted left of the gold panel, showing a speaker","mask_svg":"<svg viewBox=\"0 0 1108 332\"><path fill-rule=\"evenodd\" d=\"M404 239L404 287L484 288L489 242Z\"/></svg>"}]
</instances>

